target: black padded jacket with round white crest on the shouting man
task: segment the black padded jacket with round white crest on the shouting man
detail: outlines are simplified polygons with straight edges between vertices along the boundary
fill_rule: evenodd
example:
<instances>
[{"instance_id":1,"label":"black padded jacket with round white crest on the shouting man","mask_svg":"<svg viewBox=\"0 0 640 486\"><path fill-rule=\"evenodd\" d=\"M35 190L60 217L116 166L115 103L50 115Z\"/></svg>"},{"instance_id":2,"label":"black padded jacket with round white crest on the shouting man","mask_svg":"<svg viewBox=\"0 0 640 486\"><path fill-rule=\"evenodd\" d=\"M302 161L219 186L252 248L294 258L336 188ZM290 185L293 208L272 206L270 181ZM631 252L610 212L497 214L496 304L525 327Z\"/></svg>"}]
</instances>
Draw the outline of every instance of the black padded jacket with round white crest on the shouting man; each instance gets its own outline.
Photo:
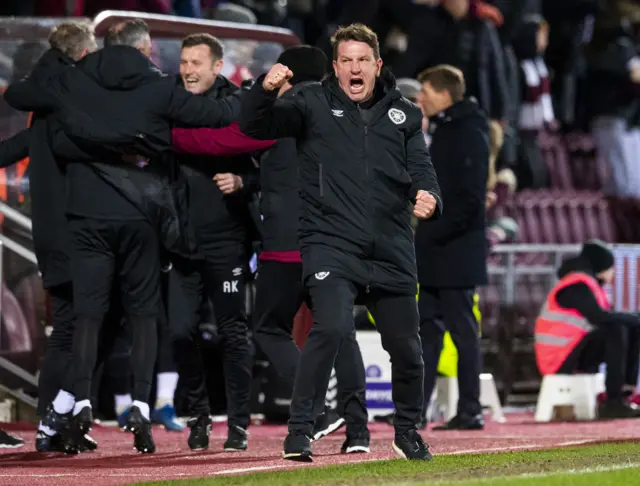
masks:
<instances>
[{"instance_id":1,"label":"black padded jacket with round white crest on the shouting man","mask_svg":"<svg viewBox=\"0 0 640 486\"><path fill-rule=\"evenodd\" d=\"M297 139L305 276L326 270L325 257L305 260L306 249L324 247L367 265L369 275L359 284L414 294L410 202L418 190L428 191L437 200L436 216L442 211L420 109L386 71L372 106L351 101L335 76L280 100L264 90L263 79L242 97L240 129L259 139ZM356 278L341 267L331 271Z\"/></svg>"}]
</instances>

